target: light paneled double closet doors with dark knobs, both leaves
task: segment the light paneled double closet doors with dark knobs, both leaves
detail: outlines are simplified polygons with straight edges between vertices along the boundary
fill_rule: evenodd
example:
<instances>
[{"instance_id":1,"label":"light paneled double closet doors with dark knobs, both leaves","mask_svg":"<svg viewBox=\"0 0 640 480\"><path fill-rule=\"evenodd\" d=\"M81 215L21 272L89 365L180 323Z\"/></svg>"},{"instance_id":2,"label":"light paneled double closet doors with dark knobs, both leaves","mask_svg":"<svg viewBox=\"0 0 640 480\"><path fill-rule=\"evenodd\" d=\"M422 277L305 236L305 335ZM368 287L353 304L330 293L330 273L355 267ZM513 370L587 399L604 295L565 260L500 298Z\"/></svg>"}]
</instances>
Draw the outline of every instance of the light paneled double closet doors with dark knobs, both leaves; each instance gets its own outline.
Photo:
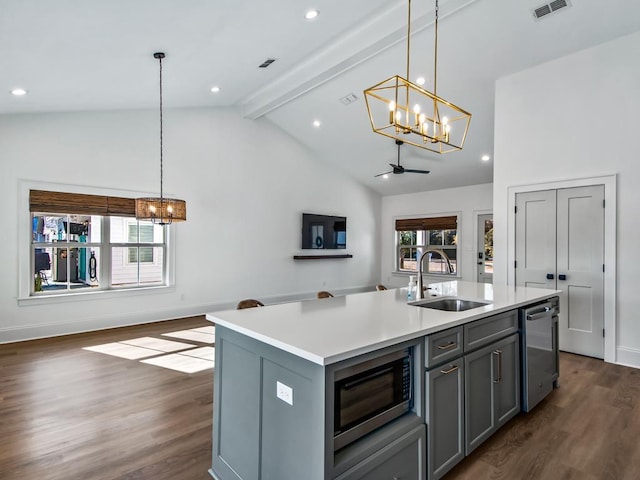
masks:
<instances>
[{"instance_id":1,"label":"light paneled double closet doors with dark knobs, both leaves","mask_svg":"<svg viewBox=\"0 0 640 480\"><path fill-rule=\"evenodd\" d=\"M560 350L604 358L604 185L516 194L515 283L562 290Z\"/></svg>"}]
</instances>

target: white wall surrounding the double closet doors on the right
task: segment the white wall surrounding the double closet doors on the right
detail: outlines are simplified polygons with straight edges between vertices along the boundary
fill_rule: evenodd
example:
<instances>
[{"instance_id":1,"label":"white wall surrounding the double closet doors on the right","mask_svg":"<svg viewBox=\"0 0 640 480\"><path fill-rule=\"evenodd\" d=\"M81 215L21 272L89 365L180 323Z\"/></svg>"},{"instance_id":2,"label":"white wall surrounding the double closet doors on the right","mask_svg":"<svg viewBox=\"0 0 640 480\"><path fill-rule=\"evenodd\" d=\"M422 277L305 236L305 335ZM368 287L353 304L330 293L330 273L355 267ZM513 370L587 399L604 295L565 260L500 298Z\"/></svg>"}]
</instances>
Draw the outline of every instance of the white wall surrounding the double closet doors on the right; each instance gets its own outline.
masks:
<instances>
[{"instance_id":1,"label":"white wall surrounding the double closet doors on the right","mask_svg":"<svg viewBox=\"0 0 640 480\"><path fill-rule=\"evenodd\" d=\"M640 33L497 82L493 203L504 252L509 187L617 175L615 360L640 367L638 51ZM507 268L497 255L495 283L506 283Z\"/></svg>"}]
</instances>

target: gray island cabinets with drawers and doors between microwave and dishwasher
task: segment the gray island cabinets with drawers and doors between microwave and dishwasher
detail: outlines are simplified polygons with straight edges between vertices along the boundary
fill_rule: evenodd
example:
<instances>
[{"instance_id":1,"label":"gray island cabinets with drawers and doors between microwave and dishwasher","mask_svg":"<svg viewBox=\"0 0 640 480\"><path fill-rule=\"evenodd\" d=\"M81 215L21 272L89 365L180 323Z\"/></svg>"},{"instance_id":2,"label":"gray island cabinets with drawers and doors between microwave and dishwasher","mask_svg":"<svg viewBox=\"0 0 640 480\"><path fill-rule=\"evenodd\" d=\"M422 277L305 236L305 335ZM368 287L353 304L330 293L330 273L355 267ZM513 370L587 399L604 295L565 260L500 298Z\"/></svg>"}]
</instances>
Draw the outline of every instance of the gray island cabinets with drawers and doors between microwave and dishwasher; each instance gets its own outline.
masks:
<instances>
[{"instance_id":1,"label":"gray island cabinets with drawers and doors between microwave and dishwasher","mask_svg":"<svg viewBox=\"0 0 640 480\"><path fill-rule=\"evenodd\" d=\"M442 478L520 411L515 310L425 338L429 480Z\"/></svg>"}]
</instances>

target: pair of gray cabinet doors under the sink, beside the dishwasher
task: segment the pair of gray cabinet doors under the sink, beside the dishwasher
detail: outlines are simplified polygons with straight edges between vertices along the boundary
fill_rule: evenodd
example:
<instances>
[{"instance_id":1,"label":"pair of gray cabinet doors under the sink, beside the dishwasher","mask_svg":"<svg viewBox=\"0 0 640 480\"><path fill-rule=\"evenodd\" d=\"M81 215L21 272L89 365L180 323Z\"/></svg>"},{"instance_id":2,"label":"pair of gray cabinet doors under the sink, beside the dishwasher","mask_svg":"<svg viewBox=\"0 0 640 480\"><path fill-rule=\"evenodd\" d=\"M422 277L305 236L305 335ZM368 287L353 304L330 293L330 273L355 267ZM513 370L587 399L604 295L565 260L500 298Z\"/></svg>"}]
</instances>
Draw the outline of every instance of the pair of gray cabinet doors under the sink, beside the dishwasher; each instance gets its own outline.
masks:
<instances>
[{"instance_id":1,"label":"pair of gray cabinet doors under the sink, beside the dishwasher","mask_svg":"<svg viewBox=\"0 0 640 480\"><path fill-rule=\"evenodd\" d=\"M520 411L518 334L464 357L466 454Z\"/></svg>"}]
</instances>

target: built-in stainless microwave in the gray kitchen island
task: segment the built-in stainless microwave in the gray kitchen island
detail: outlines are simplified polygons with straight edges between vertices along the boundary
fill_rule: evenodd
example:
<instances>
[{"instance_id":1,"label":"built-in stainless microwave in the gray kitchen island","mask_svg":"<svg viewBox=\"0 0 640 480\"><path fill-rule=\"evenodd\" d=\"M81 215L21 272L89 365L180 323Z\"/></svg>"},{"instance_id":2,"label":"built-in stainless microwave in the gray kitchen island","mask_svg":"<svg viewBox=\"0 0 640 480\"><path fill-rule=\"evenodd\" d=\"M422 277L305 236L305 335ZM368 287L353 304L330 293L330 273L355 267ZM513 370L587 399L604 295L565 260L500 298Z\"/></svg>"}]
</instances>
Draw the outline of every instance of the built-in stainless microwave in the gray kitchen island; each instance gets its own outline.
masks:
<instances>
[{"instance_id":1,"label":"built-in stainless microwave in the gray kitchen island","mask_svg":"<svg viewBox=\"0 0 640 480\"><path fill-rule=\"evenodd\" d=\"M335 372L335 450L412 408L411 363L412 349L404 348Z\"/></svg>"}]
</instances>

